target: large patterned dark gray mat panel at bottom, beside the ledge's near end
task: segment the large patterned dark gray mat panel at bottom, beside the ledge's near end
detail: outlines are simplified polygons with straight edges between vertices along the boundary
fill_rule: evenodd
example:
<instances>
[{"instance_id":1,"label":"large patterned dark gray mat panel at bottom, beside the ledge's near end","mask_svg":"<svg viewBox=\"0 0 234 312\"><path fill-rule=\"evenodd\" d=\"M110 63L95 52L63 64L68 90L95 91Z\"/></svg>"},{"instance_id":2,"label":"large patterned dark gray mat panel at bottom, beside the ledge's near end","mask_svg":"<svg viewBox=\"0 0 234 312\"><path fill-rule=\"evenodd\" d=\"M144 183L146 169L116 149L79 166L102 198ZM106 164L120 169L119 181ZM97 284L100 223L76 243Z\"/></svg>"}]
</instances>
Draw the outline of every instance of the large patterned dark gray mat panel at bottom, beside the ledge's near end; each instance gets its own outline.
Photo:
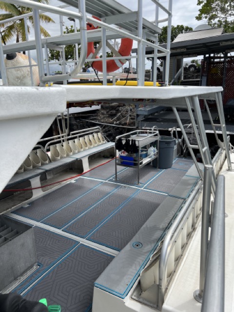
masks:
<instances>
[{"instance_id":1,"label":"large patterned dark gray mat panel at bottom, beside the ledge's near end","mask_svg":"<svg viewBox=\"0 0 234 312\"><path fill-rule=\"evenodd\" d=\"M80 244L36 283L25 298L36 301L46 298L48 305L61 305L62 312L90 311L94 282L112 259L108 254Z\"/></svg>"}]
</instances>

